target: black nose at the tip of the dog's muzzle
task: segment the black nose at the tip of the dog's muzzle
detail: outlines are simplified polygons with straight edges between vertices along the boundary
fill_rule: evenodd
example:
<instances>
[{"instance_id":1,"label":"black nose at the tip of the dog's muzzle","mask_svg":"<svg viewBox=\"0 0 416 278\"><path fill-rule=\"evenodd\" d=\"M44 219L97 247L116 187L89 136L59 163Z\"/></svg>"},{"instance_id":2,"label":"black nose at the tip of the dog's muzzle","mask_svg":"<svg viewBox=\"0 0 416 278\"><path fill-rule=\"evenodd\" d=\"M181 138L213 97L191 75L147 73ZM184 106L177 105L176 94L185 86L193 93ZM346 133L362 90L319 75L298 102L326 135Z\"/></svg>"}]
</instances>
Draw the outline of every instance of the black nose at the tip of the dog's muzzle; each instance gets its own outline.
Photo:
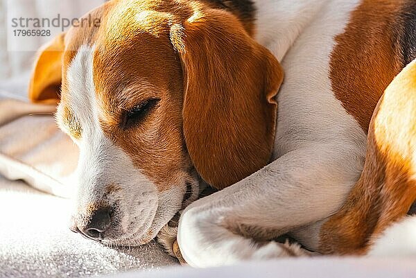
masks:
<instances>
[{"instance_id":1,"label":"black nose at the tip of the dog's muzzle","mask_svg":"<svg viewBox=\"0 0 416 278\"><path fill-rule=\"evenodd\" d=\"M85 227L78 228L78 231L81 234L84 234L88 238L92 239L103 239L103 233L108 227L110 227L111 216L110 209L98 209L92 214L89 218L89 222ZM77 231L77 232L78 232Z\"/></svg>"}]
</instances>

